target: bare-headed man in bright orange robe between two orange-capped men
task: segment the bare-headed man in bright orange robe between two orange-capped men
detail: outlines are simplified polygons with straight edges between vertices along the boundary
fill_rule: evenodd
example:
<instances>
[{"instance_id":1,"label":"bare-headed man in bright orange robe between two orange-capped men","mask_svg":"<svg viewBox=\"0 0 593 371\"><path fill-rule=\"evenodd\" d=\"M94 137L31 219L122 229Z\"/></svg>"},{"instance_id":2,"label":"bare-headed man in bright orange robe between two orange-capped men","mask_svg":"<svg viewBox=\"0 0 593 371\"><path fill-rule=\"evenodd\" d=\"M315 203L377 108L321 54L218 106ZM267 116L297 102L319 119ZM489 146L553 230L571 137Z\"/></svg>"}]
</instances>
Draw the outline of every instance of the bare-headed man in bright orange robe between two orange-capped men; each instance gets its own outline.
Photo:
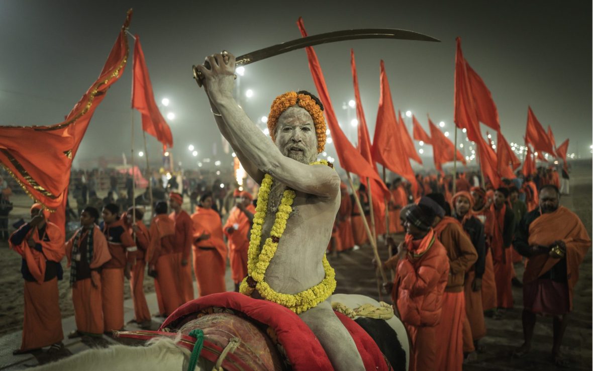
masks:
<instances>
[{"instance_id":1,"label":"bare-headed man in bright orange robe between two orange-capped men","mask_svg":"<svg viewBox=\"0 0 593 371\"><path fill-rule=\"evenodd\" d=\"M193 271L200 296L227 291L224 280L227 267L227 246L222 233L220 215L212 210L212 194L200 196L199 206L192 214Z\"/></svg>"}]
</instances>

